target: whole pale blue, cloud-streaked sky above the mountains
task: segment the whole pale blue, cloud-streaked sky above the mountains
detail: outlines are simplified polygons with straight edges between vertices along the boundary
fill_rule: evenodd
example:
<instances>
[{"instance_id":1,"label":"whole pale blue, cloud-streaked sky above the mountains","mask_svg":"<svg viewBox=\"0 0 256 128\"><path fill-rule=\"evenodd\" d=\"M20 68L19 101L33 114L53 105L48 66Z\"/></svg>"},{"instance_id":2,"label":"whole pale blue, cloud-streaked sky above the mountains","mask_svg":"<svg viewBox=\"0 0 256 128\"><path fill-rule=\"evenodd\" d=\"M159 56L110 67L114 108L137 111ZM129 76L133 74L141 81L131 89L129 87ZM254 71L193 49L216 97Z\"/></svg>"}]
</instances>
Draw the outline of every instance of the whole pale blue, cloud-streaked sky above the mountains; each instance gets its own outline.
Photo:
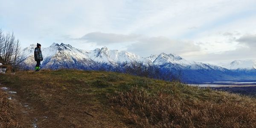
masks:
<instances>
[{"instance_id":1,"label":"whole pale blue, cloud-streaked sky above the mountains","mask_svg":"<svg viewBox=\"0 0 256 128\"><path fill-rule=\"evenodd\" d=\"M256 0L0 0L0 28L23 48L64 43L212 64L256 60Z\"/></svg>"}]
</instances>

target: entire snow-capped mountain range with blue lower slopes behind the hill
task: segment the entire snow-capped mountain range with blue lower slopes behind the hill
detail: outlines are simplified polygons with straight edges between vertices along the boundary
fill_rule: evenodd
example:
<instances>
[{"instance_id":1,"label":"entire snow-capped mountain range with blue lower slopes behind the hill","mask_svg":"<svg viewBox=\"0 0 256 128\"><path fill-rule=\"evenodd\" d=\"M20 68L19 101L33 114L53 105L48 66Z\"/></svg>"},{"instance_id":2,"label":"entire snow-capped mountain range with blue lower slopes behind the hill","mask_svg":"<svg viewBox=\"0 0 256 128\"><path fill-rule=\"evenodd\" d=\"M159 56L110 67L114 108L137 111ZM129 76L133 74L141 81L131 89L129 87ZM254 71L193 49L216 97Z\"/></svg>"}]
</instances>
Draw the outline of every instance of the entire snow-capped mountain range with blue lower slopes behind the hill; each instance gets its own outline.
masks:
<instances>
[{"instance_id":1,"label":"entire snow-capped mountain range with blue lower slopes behind the hill","mask_svg":"<svg viewBox=\"0 0 256 128\"><path fill-rule=\"evenodd\" d=\"M35 67L35 47L35 44L31 44L22 50L25 56L24 69L32 70ZM256 80L256 70L253 69L255 61L233 61L230 64L217 66L187 61L172 53L142 57L131 52L110 50L107 47L85 51L63 43L53 43L50 47L41 48L41 50L44 57L41 67L52 70L60 68L100 70L104 68L113 71L124 70L125 65L140 62L145 67L156 67L161 79L165 80L172 80L174 77L187 83ZM156 71L151 70L151 72Z\"/></svg>"}]
</instances>

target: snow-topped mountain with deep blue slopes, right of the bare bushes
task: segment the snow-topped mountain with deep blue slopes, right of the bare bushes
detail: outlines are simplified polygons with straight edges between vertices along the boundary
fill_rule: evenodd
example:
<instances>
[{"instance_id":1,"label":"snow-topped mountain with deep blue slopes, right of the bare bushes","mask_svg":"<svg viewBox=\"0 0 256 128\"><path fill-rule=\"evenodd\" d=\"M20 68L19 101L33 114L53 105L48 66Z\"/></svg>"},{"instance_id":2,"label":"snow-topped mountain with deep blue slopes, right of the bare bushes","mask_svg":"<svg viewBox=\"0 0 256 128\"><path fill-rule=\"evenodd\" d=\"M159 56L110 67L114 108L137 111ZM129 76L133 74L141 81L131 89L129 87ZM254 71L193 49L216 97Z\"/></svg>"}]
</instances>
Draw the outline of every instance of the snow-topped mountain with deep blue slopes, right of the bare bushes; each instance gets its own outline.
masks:
<instances>
[{"instance_id":1,"label":"snow-topped mountain with deep blue slopes, right of the bare bushes","mask_svg":"<svg viewBox=\"0 0 256 128\"><path fill-rule=\"evenodd\" d=\"M160 67L161 73L166 73L166 75L171 73L171 77L175 77L186 82L207 82L237 79L236 75L226 68L213 64L187 61L186 59L175 54L161 53L153 61L153 64Z\"/></svg>"}]
</instances>

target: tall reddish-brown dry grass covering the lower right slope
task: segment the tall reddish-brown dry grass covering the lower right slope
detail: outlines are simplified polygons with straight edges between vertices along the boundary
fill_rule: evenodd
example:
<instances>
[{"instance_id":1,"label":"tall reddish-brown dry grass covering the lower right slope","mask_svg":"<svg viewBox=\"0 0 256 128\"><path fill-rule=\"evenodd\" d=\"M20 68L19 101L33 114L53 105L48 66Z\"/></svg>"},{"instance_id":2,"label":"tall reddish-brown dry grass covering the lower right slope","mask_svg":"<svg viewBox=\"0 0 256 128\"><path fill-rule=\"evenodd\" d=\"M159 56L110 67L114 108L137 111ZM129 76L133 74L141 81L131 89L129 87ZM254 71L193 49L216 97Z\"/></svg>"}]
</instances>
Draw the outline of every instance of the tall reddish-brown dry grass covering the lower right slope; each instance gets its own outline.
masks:
<instances>
[{"instance_id":1,"label":"tall reddish-brown dry grass covering the lower right slope","mask_svg":"<svg viewBox=\"0 0 256 128\"><path fill-rule=\"evenodd\" d=\"M125 122L141 128L256 128L255 99L229 93L204 101L134 87L110 101Z\"/></svg>"}]
</instances>

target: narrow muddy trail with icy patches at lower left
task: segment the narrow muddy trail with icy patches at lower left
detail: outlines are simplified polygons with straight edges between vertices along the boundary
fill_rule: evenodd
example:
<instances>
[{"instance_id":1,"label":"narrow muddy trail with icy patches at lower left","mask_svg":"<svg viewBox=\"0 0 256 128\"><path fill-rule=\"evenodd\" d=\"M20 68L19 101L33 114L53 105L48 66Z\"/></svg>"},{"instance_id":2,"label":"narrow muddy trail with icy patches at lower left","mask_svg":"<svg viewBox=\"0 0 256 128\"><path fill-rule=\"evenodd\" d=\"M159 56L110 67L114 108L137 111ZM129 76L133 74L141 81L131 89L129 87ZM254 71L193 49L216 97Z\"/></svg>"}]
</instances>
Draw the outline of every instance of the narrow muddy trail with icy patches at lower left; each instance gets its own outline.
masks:
<instances>
[{"instance_id":1,"label":"narrow muddy trail with icy patches at lower left","mask_svg":"<svg viewBox=\"0 0 256 128\"><path fill-rule=\"evenodd\" d=\"M34 105L27 103L26 99L21 99L15 90L9 87L3 87L1 84L0 89L3 93L8 95L16 117L24 128L38 128L38 124L48 119L47 116L38 116L38 109L36 109Z\"/></svg>"}]
</instances>

